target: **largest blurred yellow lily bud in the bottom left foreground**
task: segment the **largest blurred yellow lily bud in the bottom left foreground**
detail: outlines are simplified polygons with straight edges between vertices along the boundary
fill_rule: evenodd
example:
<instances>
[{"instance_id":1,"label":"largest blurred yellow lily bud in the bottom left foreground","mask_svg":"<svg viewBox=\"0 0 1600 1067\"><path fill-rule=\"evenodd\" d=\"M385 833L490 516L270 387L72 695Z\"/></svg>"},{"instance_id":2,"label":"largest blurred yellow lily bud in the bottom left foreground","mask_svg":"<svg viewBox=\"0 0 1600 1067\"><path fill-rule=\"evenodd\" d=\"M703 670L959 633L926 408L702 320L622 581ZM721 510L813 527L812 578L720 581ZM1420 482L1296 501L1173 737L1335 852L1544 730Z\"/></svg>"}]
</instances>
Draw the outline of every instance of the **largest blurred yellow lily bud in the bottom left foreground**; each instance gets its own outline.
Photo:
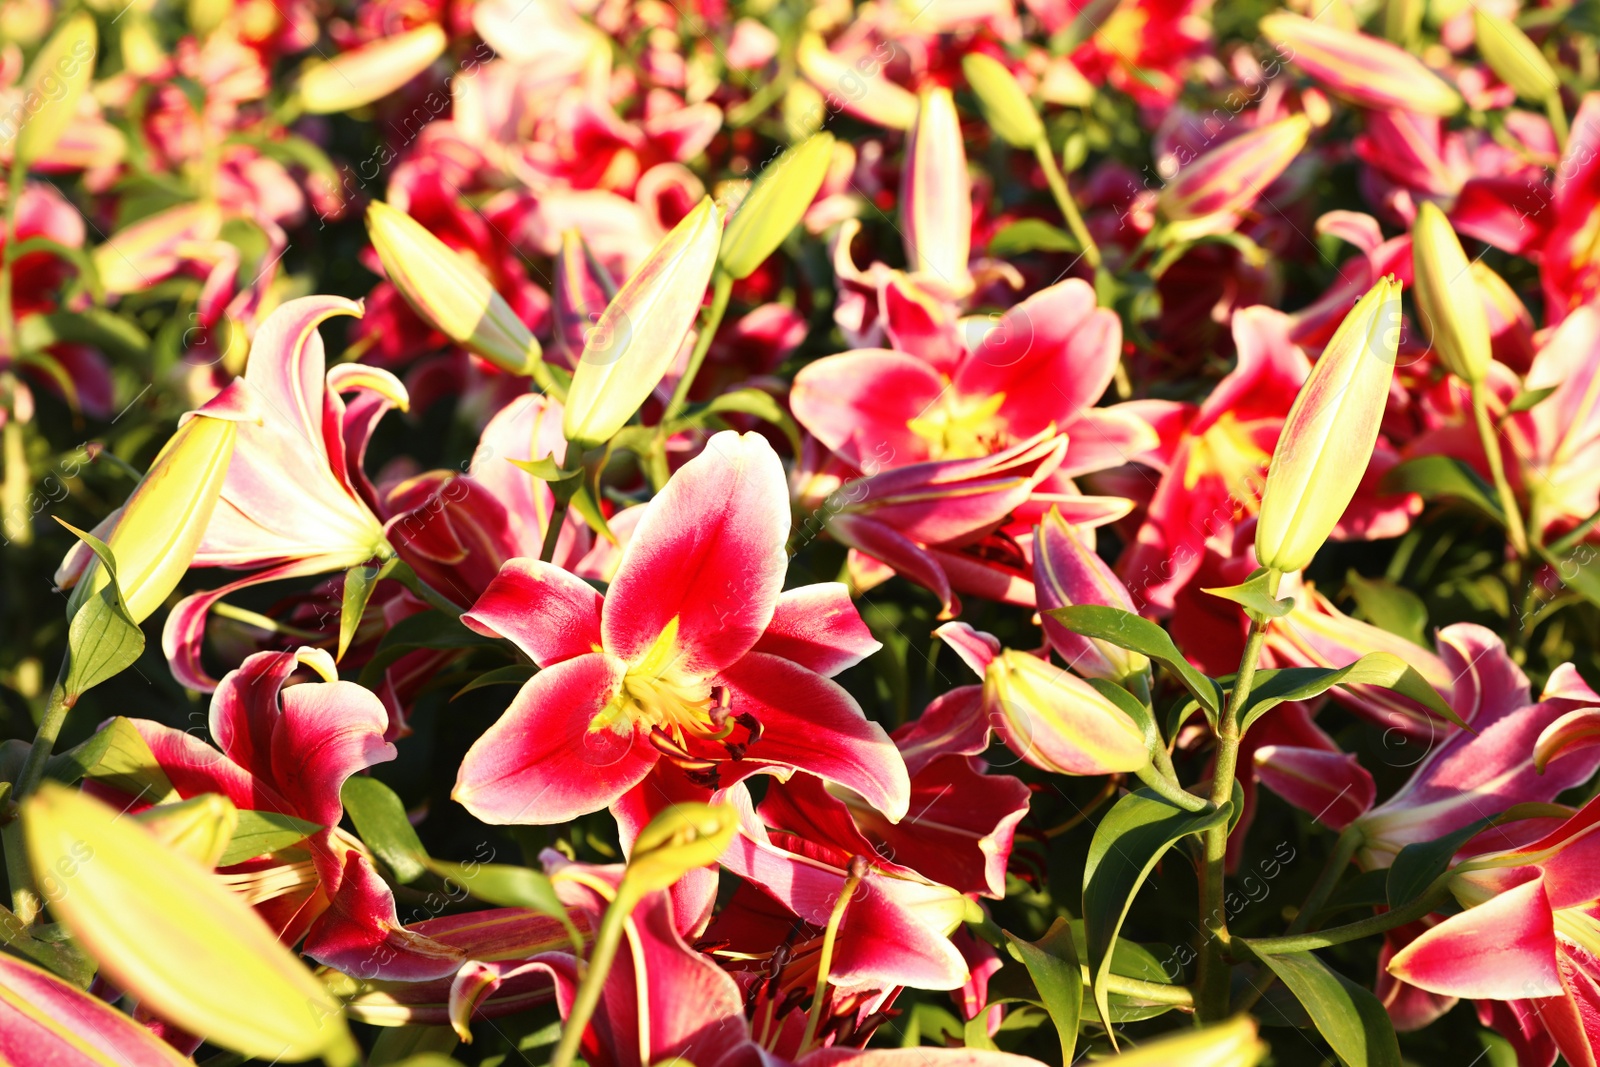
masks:
<instances>
[{"instance_id":1,"label":"largest blurred yellow lily bud in the bottom left foreground","mask_svg":"<svg viewBox=\"0 0 1600 1067\"><path fill-rule=\"evenodd\" d=\"M50 910L142 1008L245 1056L357 1061L339 1003L210 870L54 782L21 817Z\"/></svg>"}]
</instances>

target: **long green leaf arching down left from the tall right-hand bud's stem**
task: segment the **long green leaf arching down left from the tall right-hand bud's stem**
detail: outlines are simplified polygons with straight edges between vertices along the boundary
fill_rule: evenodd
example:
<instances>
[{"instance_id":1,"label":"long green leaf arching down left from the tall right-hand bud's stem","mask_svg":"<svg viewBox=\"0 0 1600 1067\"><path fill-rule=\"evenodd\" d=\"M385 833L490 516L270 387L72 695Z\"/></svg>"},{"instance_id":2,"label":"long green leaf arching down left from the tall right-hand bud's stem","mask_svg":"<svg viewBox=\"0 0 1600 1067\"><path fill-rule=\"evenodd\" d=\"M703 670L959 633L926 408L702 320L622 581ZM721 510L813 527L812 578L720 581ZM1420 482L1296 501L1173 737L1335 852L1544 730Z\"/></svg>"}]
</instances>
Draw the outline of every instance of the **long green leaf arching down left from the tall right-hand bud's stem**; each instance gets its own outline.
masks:
<instances>
[{"instance_id":1,"label":"long green leaf arching down left from the tall right-hand bud's stem","mask_svg":"<svg viewBox=\"0 0 1600 1067\"><path fill-rule=\"evenodd\" d=\"M1094 827L1083 867L1083 931L1094 1006L1102 1019L1109 1014L1106 974L1110 955L1139 886L1168 848L1190 833L1222 825L1230 808L1229 803L1214 811L1184 811L1155 792L1139 789L1118 800Z\"/></svg>"}]
</instances>

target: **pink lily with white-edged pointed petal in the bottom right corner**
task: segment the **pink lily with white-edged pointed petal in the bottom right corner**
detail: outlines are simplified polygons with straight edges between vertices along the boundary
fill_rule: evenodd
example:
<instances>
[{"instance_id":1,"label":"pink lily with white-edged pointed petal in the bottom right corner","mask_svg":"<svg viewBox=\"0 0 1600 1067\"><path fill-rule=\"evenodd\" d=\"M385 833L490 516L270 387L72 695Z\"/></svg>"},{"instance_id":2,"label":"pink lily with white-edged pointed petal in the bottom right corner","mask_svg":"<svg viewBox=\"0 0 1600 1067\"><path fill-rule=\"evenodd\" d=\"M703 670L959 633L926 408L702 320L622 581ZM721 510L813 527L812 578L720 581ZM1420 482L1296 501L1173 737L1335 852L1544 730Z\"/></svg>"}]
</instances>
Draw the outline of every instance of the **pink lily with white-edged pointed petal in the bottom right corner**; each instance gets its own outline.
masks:
<instances>
[{"instance_id":1,"label":"pink lily with white-edged pointed petal in the bottom right corner","mask_svg":"<svg viewBox=\"0 0 1600 1067\"><path fill-rule=\"evenodd\" d=\"M1395 952L1389 974L1437 995L1478 1000L1480 1017L1528 1049L1522 1062L1549 1064L1560 1051L1568 1064L1594 1067L1600 1062L1597 825L1600 801L1590 800L1531 843L1459 864L1450 889L1466 910Z\"/></svg>"}]
</instances>

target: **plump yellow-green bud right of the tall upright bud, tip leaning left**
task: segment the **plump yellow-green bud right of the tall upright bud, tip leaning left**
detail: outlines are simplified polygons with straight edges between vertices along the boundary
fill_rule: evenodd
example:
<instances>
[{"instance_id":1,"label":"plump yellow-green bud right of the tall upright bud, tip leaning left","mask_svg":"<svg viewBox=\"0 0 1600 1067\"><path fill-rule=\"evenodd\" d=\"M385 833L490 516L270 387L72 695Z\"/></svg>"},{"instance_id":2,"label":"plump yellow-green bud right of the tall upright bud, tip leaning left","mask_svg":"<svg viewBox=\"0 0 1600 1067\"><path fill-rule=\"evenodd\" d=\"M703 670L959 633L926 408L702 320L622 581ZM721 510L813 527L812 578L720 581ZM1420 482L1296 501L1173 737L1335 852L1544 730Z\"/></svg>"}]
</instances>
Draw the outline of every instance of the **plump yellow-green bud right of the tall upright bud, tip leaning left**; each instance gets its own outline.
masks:
<instances>
[{"instance_id":1,"label":"plump yellow-green bud right of the tall upright bud, tip leaning left","mask_svg":"<svg viewBox=\"0 0 1600 1067\"><path fill-rule=\"evenodd\" d=\"M1411 224L1411 264L1416 304L1434 349L1451 374L1474 386L1482 382L1493 357L1483 296L1450 219L1427 200Z\"/></svg>"}]
</instances>

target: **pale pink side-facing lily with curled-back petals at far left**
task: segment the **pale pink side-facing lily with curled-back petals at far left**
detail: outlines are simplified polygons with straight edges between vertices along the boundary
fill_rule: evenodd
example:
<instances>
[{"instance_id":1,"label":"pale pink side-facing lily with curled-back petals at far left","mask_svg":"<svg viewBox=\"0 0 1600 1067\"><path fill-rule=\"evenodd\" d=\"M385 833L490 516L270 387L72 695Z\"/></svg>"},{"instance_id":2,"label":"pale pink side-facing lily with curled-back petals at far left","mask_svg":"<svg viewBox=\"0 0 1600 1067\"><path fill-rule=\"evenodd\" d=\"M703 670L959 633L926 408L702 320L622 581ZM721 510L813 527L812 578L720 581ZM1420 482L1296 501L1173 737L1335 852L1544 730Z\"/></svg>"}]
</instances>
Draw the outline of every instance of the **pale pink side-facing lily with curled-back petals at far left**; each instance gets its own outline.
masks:
<instances>
[{"instance_id":1,"label":"pale pink side-facing lily with curled-back petals at far left","mask_svg":"<svg viewBox=\"0 0 1600 1067\"><path fill-rule=\"evenodd\" d=\"M275 310L251 347L243 387L262 414L240 424L195 566L259 568L246 577L186 597L162 632L173 675L190 689L216 688L200 662L206 614L222 597L280 577L342 571L392 555L362 458L378 419L406 405L389 371L358 363L325 368L317 325L360 315L360 304L307 296ZM360 394L346 406L339 394ZM213 403L230 403L224 394Z\"/></svg>"}]
</instances>

